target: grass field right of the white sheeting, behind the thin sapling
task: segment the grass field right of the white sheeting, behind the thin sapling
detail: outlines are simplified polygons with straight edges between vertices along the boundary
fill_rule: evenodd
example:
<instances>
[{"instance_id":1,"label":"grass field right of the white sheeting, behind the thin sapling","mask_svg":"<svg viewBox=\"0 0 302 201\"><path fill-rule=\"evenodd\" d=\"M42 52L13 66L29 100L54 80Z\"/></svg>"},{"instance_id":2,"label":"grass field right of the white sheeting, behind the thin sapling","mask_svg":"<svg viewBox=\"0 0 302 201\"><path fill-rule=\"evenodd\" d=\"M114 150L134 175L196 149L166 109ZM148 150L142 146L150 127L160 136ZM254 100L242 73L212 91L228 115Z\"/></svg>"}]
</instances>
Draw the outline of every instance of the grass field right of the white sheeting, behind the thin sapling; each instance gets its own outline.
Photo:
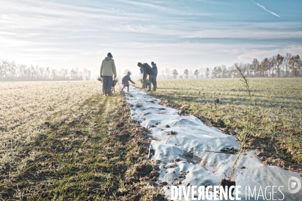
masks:
<instances>
[{"instance_id":1,"label":"grass field right of the white sheeting, behind the thin sapling","mask_svg":"<svg viewBox=\"0 0 302 201\"><path fill-rule=\"evenodd\" d=\"M302 79L249 80L253 95L250 148L268 152L262 158L266 164L300 168L295 165L302 163ZM224 133L236 135L246 121L248 96L240 79L158 80L158 89L152 93L162 104L182 110L183 115L193 114Z\"/></svg>"}]
</instances>

